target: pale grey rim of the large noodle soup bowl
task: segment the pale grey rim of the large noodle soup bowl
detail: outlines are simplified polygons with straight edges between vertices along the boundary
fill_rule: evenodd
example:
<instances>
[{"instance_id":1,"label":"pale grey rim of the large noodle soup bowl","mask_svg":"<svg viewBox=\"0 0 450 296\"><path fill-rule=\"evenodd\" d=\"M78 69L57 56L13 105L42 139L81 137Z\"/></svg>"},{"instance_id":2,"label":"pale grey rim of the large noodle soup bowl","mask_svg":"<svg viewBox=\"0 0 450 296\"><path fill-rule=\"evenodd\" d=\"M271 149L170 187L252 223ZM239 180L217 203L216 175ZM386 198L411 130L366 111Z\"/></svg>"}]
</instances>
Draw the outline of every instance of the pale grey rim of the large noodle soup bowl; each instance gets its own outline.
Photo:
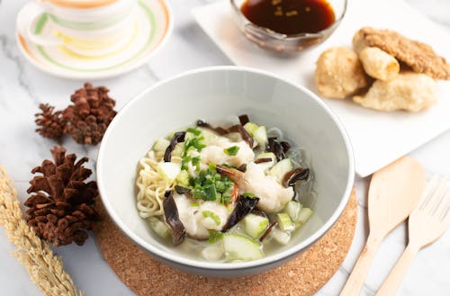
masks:
<instances>
[{"instance_id":1,"label":"pale grey rim of the large noodle soup bowl","mask_svg":"<svg viewBox=\"0 0 450 296\"><path fill-rule=\"evenodd\" d=\"M320 106L329 114L331 119L337 124L338 130L340 131L342 138L344 140L344 144L347 148L347 158L349 162L348 166L348 179L347 179L347 186L345 193L343 194L343 197L341 201L338 204L338 207L335 209L335 211L332 213L329 220L327 220L320 229L317 229L310 237L305 238L302 240L301 243L294 245L293 247L289 247L285 249L284 251L277 253L272 256L265 256L261 259L253 260L253 261L247 261L247 262L238 262L238 263L221 263L221 262L208 262L208 261L202 261L202 260L196 260L193 258L186 258L184 256L180 256L178 254L171 254L167 253L165 250L158 248L155 245L152 245L148 241L144 240L143 238L140 238L138 235L136 235L124 222L122 222L119 215L115 213L115 211L112 208L112 204L108 201L107 198L105 198L105 184L103 184L103 175L99 174L99 172L103 171L103 154L104 150L106 148L106 143L109 139L109 137L112 135L112 130L114 130L114 127L118 124L117 122L121 121L122 114L127 112L128 109L130 109L130 106L138 102L140 99L145 97L146 94L151 92L153 89L159 87L160 85L164 85L167 83L170 83L176 79L182 78L184 76L193 76L197 74L202 74L205 72L217 72L217 71L227 71L227 72L247 72L251 74L257 74L261 76L269 76L271 78L274 78L275 80L279 80L281 82L284 82L288 85L292 85L296 88L299 88L303 93L309 95L311 99L316 101L316 103L319 103ZM118 226L121 231L128 236L132 241L134 241L140 248L146 250L148 253L150 253L153 256L156 256L158 260L163 260L166 262L174 263L175 265L184 265L187 267L197 267L201 269L211 269L211 270L243 270L243 269L249 269L249 268L255 268L258 266L263 265L270 265L274 264L275 262L281 261L285 258L289 258L292 256L295 256L302 250L305 250L308 247L311 247L316 241L318 241L338 220L342 212L344 211L345 207L347 206L347 202L350 198L350 194L352 192L354 182L355 182L355 158L353 154L353 148L350 143L350 139L348 138L347 131L345 130L344 126L342 125L341 121L338 119L338 116L329 108L329 106L324 103L320 97L314 93L312 93L308 88L306 88L303 85L295 84L293 81L275 76L275 74L272 74L270 72L251 68L251 67L237 67L237 66L215 66L215 67L201 67L196 68L193 70L185 71L181 74L169 77L167 79L163 79L155 83L154 85L150 85L146 89L144 89L139 94L135 95L128 103L126 103L120 110L120 112L117 113L117 115L114 117L112 122L110 123L108 129L104 133L103 140L100 144L97 162L96 162L96 174L97 174L97 184L99 189L99 195L103 202L104 208L109 214L109 216L112 218L112 221Z\"/></svg>"}]
</instances>

